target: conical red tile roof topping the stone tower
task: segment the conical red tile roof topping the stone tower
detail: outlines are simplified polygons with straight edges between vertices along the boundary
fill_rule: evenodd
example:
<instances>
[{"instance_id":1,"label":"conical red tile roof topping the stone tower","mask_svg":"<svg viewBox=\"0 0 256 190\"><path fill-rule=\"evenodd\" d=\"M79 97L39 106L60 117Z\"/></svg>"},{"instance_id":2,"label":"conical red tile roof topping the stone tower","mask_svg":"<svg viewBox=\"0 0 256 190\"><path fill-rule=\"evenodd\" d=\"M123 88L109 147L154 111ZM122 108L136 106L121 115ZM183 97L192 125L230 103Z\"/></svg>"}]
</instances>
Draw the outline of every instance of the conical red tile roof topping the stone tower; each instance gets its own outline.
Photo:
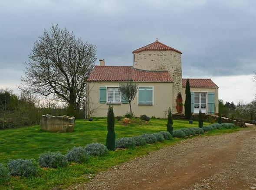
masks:
<instances>
[{"instance_id":1,"label":"conical red tile roof topping the stone tower","mask_svg":"<svg viewBox=\"0 0 256 190\"><path fill-rule=\"evenodd\" d=\"M153 43L151 43L151 44L148 44L148 45L146 45L146 46L144 46L142 48L139 48L139 49L133 51L132 53L138 53L138 52L141 52L141 51L149 51L149 50L151 50L151 51L167 51L167 50L172 50L172 51L176 51L176 52L182 54L181 51L178 51L178 50L176 50L174 48L171 48L170 46L167 46L167 45L161 43L158 40L153 42Z\"/></svg>"}]
</instances>

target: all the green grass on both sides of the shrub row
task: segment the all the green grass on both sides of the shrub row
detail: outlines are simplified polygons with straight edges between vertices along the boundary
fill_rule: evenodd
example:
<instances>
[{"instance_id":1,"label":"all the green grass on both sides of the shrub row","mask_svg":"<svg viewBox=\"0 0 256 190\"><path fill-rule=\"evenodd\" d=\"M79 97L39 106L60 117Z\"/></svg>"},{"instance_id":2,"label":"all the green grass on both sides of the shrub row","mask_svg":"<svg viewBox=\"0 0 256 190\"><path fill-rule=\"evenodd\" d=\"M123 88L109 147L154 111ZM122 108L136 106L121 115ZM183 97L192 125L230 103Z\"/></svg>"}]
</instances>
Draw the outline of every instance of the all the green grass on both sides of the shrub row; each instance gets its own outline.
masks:
<instances>
[{"instance_id":1,"label":"all the green grass on both sides of the shrub row","mask_svg":"<svg viewBox=\"0 0 256 190\"><path fill-rule=\"evenodd\" d=\"M134 136L142 133L154 133L166 130L167 120L151 119L148 125L133 124L122 126L115 125L117 138L121 136ZM204 123L205 125L209 123ZM197 127L198 122L193 125L184 120L174 120L174 130L182 127ZM106 119L95 121L76 120L73 133L50 133L41 132L40 127L22 127L0 131L0 162L6 165L8 159L12 158L35 158L46 151L66 151L73 146L85 146L91 142L105 143ZM217 135L220 133L235 132L238 129L213 130L206 135ZM123 149L110 152L104 157L91 157L84 164L71 164L65 168L41 170L36 177L11 177L9 184L0 189L16 190L48 190L52 187L68 187L71 184L82 183L89 180L88 175L95 175L100 171L119 165L132 158L142 156L148 152L171 146L183 139L172 139L153 145L136 147L135 149Z\"/></svg>"}]
</instances>

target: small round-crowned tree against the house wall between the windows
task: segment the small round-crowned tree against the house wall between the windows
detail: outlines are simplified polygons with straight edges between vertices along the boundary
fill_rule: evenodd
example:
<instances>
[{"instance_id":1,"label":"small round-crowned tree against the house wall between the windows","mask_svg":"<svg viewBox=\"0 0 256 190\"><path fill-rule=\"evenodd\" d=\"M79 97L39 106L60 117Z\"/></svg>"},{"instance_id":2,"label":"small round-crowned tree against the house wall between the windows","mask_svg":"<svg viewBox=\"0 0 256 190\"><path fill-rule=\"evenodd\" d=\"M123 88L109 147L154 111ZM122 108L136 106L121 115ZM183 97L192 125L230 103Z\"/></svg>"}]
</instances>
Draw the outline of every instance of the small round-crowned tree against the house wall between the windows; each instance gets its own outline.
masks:
<instances>
[{"instance_id":1,"label":"small round-crowned tree against the house wall between the windows","mask_svg":"<svg viewBox=\"0 0 256 190\"><path fill-rule=\"evenodd\" d=\"M122 99L129 102L130 105L130 115L133 117L131 111L131 101L134 100L138 91L138 83L128 80L126 82L119 83L119 92L121 93Z\"/></svg>"}]
</instances>

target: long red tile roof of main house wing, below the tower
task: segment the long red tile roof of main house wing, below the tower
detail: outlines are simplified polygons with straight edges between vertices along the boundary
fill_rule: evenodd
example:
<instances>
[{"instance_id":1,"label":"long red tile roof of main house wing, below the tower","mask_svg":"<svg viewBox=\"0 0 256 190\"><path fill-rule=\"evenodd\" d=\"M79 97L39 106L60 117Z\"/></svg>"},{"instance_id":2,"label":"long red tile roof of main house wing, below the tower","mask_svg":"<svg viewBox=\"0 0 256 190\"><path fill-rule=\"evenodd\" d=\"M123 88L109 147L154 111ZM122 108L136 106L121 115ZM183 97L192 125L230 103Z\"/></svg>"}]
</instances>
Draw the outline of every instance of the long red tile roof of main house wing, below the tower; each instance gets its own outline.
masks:
<instances>
[{"instance_id":1,"label":"long red tile roof of main house wing, below the tower","mask_svg":"<svg viewBox=\"0 0 256 190\"><path fill-rule=\"evenodd\" d=\"M146 71L132 66L95 66L88 81L173 82L168 71Z\"/></svg>"}]
</instances>

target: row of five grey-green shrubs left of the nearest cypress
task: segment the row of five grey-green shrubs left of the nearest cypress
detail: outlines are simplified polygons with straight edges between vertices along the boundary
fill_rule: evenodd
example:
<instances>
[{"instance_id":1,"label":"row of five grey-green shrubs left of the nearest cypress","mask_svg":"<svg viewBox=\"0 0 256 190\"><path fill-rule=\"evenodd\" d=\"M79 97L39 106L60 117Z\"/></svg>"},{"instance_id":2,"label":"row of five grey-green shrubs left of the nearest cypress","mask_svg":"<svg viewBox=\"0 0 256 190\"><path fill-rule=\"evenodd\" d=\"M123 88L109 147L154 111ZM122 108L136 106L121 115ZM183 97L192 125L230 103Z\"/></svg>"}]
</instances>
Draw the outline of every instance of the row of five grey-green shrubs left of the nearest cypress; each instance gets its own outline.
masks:
<instances>
[{"instance_id":1,"label":"row of five grey-green shrubs left of the nearest cypress","mask_svg":"<svg viewBox=\"0 0 256 190\"><path fill-rule=\"evenodd\" d=\"M6 183L10 179L10 174L14 176L34 176L39 172L39 166L44 168L60 168L69 165L69 162L83 163L91 156L103 156L108 153L105 145L91 143L85 147L73 147L66 155L60 152L45 152L38 158L38 163L34 159L10 160L7 168L0 164L0 184Z\"/></svg>"}]
</instances>

